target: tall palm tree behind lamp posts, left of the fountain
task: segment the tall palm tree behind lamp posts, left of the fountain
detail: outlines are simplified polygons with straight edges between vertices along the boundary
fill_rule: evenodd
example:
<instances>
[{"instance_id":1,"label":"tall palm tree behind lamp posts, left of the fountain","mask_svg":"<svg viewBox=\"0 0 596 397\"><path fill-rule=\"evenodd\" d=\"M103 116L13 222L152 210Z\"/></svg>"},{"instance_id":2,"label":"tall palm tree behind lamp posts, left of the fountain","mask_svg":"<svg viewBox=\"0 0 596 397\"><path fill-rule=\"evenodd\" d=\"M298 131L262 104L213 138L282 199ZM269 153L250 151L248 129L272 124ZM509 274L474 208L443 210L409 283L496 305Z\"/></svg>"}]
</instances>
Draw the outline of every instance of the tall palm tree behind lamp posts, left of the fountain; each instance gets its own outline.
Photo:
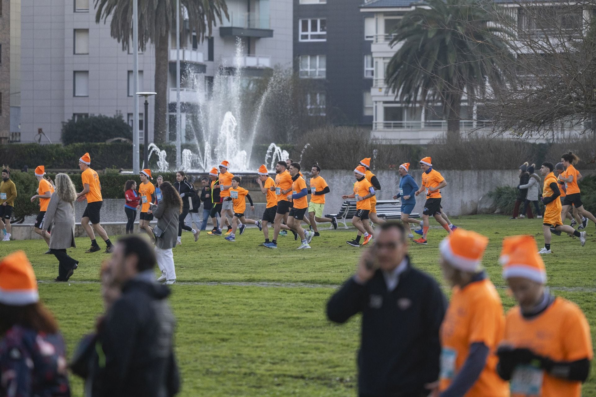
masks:
<instances>
[{"instance_id":1,"label":"tall palm tree behind lamp posts, left of the fountain","mask_svg":"<svg viewBox=\"0 0 596 397\"><path fill-rule=\"evenodd\" d=\"M104 23L111 15L110 34L123 51L132 41L132 0L94 0L95 22ZM181 37L187 32L197 32L197 39L211 36L213 26L222 22L222 14L228 18L225 0L180 0L188 18L188 31L180 24ZM168 40L170 31L176 29L176 0L139 0L139 48L145 49L147 42L155 46L155 98L154 140L164 142L166 138ZM184 12L182 12L184 14ZM182 15L181 15L181 20Z\"/></svg>"}]
</instances>

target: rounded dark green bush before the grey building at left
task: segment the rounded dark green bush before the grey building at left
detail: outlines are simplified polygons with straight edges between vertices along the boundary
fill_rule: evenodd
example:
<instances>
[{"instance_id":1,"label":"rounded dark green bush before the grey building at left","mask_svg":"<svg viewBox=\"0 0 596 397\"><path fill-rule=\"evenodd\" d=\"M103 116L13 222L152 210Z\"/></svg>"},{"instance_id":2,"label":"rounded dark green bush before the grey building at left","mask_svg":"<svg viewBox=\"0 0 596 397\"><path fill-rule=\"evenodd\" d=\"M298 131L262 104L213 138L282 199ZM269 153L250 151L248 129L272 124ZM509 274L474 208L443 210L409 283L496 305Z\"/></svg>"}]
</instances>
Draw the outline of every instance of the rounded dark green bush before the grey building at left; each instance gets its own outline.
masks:
<instances>
[{"instance_id":1,"label":"rounded dark green bush before the grey building at left","mask_svg":"<svg viewBox=\"0 0 596 397\"><path fill-rule=\"evenodd\" d=\"M122 114L108 117L97 115L70 119L62 126L61 139L64 145L79 142L105 142L112 138L132 140L132 128L124 121Z\"/></svg>"}]
</instances>

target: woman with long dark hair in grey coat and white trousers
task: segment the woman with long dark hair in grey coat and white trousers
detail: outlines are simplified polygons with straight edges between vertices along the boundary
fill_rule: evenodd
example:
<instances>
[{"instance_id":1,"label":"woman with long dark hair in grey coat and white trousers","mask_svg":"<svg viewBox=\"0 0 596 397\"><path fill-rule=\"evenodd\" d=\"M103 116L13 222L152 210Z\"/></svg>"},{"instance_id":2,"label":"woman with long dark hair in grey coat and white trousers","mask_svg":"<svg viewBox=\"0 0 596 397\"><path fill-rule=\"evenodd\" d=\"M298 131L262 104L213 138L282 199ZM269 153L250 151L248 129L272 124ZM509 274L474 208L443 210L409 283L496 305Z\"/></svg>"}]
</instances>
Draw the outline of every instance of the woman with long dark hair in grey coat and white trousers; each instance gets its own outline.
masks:
<instances>
[{"instance_id":1,"label":"woman with long dark hair in grey coat and white trousers","mask_svg":"<svg viewBox=\"0 0 596 397\"><path fill-rule=\"evenodd\" d=\"M178 238L178 216L182 213L182 199L169 182L162 183L160 189L162 200L157 205L151 205L153 216L157 218L157 229L163 231L158 237L158 230L154 230L157 265L162 271L162 276L157 281L173 284L176 282L176 270L172 248L176 246Z\"/></svg>"}]
</instances>

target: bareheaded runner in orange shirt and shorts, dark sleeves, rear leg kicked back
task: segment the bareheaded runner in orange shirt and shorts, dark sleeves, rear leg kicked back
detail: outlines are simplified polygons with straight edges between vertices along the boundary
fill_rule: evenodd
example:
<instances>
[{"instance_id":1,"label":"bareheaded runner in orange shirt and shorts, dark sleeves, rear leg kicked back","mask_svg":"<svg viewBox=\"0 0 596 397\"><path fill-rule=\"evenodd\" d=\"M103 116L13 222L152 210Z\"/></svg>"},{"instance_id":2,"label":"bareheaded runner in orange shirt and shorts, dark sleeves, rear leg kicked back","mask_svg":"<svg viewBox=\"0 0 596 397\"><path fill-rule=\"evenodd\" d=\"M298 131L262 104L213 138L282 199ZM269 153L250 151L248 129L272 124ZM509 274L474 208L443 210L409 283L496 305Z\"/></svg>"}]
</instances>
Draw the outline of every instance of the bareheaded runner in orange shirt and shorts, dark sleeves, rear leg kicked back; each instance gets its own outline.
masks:
<instances>
[{"instance_id":1,"label":"bareheaded runner in orange shirt and shorts, dark sleeves, rear leg kicked back","mask_svg":"<svg viewBox=\"0 0 596 397\"><path fill-rule=\"evenodd\" d=\"M561 201L559 196L561 192L558 188L557 177L552 172L554 165L552 162L543 162L540 167L540 173L544 176L544 186L542 187L542 202L544 203L544 219L542 220L542 233L544 233L544 248L538 251L538 254L551 253L551 227L555 232L565 232L568 235L579 237L582 247L586 243L586 232L578 232L569 225L561 222ZM567 190L569 191L569 190Z\"/></svg>"}]
</instances>

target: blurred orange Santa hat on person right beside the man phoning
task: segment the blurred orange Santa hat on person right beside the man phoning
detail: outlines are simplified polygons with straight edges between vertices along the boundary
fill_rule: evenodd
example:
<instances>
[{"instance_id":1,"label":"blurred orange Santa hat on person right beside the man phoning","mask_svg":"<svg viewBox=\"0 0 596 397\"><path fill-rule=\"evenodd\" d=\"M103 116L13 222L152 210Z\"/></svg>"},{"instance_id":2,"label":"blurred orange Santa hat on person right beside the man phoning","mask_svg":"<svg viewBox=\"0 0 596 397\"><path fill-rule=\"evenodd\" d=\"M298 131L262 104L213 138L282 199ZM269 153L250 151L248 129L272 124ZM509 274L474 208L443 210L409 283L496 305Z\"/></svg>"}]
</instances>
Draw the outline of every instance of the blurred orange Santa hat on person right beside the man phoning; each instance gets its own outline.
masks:
<instances>
[{"instance_id":1,"label":"blurred orange Santa hat on person right beside the man phoning","mask_svg":"<svg viewBox=\"0 0 596 397\"><path fill-rule=\"evenodd\" d=\"M488 245L488 237L458 227L439 244L443 258L463 271L478 271Z\"/></svg>"}]
</instances>

